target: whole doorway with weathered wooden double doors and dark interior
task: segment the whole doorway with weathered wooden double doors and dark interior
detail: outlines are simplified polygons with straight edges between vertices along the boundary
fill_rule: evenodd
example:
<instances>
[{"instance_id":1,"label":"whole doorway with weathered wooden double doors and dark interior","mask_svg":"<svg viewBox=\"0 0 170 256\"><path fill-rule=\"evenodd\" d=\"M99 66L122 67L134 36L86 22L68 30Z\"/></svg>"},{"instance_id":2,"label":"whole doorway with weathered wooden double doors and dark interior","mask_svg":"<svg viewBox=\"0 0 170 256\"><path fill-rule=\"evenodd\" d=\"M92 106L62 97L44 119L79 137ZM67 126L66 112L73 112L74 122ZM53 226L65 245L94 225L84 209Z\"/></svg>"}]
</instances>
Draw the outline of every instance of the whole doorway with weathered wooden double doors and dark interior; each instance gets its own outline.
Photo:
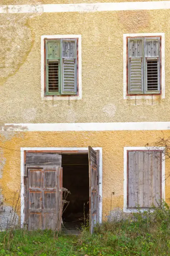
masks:
<instances>
[{"instance_id":1,"label":"whole doorway with weathered wooden double doors and dark interior","mask_svg":"<svg viewBox=\"0 0 170 256\"><path fill-rule=\"evenodd\" d=\"M21 148L21 226L26 224L29 230L56 229L59 219L57 229L61 229L62 223L68 228L78 228L89 215L92 233L96 223L101 222L101 153L101 148L90 146ZM72 191L62 215L59 201L64 187Z\"/></svg>"}]
</instances>

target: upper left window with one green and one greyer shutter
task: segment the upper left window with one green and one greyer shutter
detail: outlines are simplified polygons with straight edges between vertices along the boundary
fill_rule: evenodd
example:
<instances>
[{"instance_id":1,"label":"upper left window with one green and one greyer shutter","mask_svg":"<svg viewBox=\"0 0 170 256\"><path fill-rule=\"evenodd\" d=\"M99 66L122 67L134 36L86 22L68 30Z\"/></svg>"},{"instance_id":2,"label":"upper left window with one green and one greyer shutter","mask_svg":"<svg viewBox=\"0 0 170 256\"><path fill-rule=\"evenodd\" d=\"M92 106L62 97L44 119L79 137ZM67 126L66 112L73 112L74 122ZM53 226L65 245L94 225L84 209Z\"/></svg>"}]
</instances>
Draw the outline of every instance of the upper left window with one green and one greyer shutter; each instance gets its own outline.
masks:
<instances>
[{"instance_id":1,"label":"upper left window with one green and one greyer shutter","mask_svg":"<svg viewBox=\"0 0 170 256\"><path fill-rule=\"evenodd\" d=\"M77 95L78 38L44 39L45 96Z\"/></svg>"}]
</instances>

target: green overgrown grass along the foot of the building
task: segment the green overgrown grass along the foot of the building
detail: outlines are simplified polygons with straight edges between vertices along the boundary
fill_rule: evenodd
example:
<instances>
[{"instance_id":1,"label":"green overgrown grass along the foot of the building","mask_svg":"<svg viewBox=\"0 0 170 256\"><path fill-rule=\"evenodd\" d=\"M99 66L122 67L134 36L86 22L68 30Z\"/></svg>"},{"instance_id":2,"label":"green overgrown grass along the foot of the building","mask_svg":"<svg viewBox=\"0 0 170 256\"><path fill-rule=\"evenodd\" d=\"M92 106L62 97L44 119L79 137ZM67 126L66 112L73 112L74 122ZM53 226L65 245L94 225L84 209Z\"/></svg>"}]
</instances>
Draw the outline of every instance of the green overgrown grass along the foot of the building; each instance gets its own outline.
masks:
<instances>
[{"instance_id":1,"label":"green overgrown grass along the foot of the building","mask_svg":"<svg viewBox=\"0 0 170 256\"><path fill-rule=\"evenodd\" d=\"M138 212L127 218L103 222L93 235L82 228L80 236L60 234L54 238L50 230L14 230L0 233L0 255L60 256L152 256L170 255L170 209L166 203L154 212Z\"/></svg>"}]
</instances>

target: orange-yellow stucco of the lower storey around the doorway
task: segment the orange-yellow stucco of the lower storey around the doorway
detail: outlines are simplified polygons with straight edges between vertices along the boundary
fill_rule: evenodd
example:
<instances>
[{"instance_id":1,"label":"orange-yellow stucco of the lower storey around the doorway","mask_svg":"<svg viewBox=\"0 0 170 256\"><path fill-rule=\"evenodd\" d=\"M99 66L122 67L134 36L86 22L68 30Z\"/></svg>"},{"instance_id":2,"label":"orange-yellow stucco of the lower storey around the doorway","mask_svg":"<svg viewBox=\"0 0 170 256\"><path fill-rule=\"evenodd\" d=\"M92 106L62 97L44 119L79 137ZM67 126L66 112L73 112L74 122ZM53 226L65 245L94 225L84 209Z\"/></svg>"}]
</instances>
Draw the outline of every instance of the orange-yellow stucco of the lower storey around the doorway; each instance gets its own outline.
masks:
<instances>
[{"instance_id":1,"label":"orange-yellow stucco of the lower storey around the doorway","mask_svg":"<svg viewBox=\"0 0 170 256\"><path fill-rule=\"evenodd\" d=\"M1 156L5 159L0 179L2 197L11 205L12 195L20 189L20 147L102 147L102 213L105 218L110 212L112 192L112 209L123 207L124 147L145 146L146 143L152 146L161 136L161 131L16 132L13 136L2 134ZM170 131L164 131L164 136L168 138ZM165 174L169 173L170 160L166 160ZM165 200L169 203L170 178L165 183Z\"/></svg>"}]
</instances>

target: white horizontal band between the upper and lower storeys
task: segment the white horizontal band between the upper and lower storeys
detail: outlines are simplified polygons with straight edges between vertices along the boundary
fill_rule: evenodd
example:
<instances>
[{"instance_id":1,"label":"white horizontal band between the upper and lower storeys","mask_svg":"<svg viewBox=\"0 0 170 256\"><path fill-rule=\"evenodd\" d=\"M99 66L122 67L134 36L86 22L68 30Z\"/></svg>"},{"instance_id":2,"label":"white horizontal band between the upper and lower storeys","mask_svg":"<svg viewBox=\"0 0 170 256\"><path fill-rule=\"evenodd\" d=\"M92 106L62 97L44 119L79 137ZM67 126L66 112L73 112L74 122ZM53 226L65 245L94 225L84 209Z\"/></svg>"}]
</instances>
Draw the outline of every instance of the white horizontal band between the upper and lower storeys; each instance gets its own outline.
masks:
<instances>
[{"instance_id":1,"label":"white horizontal band between the upper and lower storeys","mask_svg":"<svg viewBox=\"0 0 170 256\"><path fill-rule=\"evenodd\" d=\"M170 122L5 123L0 131L149 131L170 130Z\"/></svg>"}]
</instances>

